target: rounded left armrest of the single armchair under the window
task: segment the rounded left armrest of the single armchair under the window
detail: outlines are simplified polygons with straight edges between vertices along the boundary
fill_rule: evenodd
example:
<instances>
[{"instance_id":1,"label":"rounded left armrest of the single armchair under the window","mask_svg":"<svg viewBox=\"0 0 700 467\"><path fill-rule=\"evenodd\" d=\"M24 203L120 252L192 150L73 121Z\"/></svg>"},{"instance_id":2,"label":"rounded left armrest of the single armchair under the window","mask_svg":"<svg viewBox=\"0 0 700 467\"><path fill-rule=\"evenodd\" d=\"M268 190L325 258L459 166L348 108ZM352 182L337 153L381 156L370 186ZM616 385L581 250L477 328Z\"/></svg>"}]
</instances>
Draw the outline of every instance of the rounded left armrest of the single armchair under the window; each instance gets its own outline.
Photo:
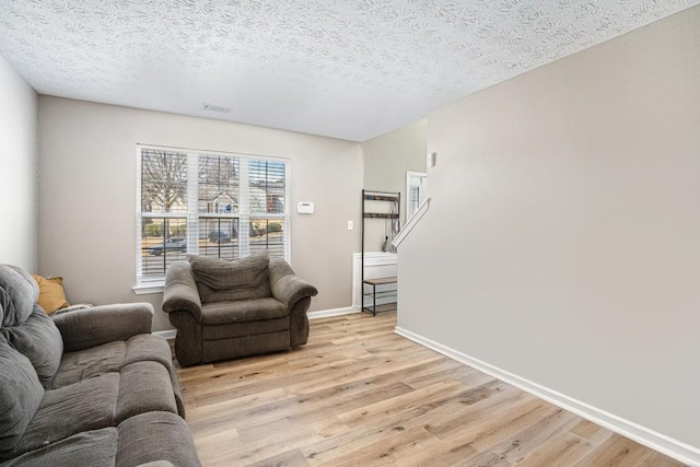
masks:
<instances>
[{"instance_id":1,"label":"rounded left armrest of the single armchair under the window","mask_svg":"<svg viewBox=\"0 0 700 467\"><path fill-rule=\"evenodd\" d=\"M189 262L175 261L168 266L163 288L163 311L189 312L195 319L201 320L201 300Z\"/></svg>"}]
</instances>

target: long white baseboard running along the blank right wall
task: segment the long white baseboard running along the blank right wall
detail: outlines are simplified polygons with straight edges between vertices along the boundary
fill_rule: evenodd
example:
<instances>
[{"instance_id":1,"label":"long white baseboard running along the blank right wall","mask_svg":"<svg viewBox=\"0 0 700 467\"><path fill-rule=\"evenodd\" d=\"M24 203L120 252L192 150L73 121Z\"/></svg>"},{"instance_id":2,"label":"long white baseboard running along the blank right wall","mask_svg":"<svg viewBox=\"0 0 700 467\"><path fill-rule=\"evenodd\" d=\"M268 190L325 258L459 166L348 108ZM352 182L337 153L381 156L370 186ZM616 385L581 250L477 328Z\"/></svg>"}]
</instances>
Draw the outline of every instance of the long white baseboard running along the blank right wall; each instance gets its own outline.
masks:
<instances>
[{"instance_id":1,"label":"long white baseboard running along the blank right wall","mask_svg":"<svg viewBox=\"0 0 700 467\"><path fill-rule=\"evenodd\" d=\"M533 396L547 400L548 402L573 412L579 417L597 423L600 427L619 433L622 436L629 437L630 440L649 446L654 451L658 451L667 456L670 456L686 465L700 466L700 450L698 447L682 443L678 440L674 440L669 436L666 436L665 434L650 430L614 413L600 410L588 404L561 394L557 390L541 386L505 370L501 370L478 359L457 352L453 349L450 349L448 347L442 346L438 342L413 334L409 330L402 329L398 326L395 328L395 332L417 343L420 343L421 346L428 347L429 349L442 353L445 357L479 370L480 372L491 375L504 383L513 385L518 389L532 394Z\"/></svg>"}]
</instances>

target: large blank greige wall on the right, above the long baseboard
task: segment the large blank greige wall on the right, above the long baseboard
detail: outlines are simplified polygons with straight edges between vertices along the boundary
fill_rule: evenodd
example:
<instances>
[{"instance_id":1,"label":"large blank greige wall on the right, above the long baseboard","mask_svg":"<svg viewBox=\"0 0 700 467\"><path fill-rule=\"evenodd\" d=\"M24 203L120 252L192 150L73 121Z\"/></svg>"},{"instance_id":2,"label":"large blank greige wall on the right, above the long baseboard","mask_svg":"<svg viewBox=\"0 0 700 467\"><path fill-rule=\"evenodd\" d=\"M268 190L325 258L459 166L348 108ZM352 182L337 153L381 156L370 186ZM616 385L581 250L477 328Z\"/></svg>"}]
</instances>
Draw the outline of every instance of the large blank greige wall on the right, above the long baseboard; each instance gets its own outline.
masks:
<instances>
[{"instance_id":1,"label":"large blank greige wall on the right, above the long baseboard","mask_svg":"<svg viewBox=\"0 0 700 467\"><path fill-rule=\"evenodd\" d=\"M431 113L399 328L698 455L698 50L696 7Z\"/></svg>"}]
</instances>

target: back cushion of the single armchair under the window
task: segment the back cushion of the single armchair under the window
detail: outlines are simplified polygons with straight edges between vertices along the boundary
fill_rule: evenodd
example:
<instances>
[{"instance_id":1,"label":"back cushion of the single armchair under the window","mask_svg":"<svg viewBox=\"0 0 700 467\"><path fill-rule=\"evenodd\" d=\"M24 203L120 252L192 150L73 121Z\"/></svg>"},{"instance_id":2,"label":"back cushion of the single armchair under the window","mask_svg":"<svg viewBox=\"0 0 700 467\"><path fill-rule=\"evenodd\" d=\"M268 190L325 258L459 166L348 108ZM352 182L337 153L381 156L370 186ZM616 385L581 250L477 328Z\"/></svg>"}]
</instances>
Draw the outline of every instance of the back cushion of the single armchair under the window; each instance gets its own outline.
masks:
<instances>
[{"instance_id":1,"label":"back cushion of the single armchair under the window","mask_svg":"<svg viewBox=\"0 0 700 467\"><path fill-rule=\"evenodd\" d=\"M202 304L271 296L267 252L233 261L196 255L187 259Z\"/></svg>"}]
</instances>

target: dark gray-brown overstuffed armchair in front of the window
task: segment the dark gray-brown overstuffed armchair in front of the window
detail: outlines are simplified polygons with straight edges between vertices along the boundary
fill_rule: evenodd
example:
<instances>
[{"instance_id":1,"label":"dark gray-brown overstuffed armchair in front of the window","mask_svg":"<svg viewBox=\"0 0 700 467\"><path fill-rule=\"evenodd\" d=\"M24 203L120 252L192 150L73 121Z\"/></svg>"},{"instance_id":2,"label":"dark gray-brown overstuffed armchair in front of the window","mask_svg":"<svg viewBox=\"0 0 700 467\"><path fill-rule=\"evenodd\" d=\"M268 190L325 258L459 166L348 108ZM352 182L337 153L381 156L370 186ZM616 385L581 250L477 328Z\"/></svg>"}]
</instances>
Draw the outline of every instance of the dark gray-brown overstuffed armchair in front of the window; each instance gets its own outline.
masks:
<instances>
[{"instance_id":1,"label":"dark gray-brown overstuffed armchair in front of the window","mask_svg":"<svg viewBox=\"0 0 700 467\"><path fill-rule=\"evenodd\" d=\"M165 273L163 311L183 366L306 343L315 287L267 252L226 261L190 256Z\"/></svg>"}]
</instances>

